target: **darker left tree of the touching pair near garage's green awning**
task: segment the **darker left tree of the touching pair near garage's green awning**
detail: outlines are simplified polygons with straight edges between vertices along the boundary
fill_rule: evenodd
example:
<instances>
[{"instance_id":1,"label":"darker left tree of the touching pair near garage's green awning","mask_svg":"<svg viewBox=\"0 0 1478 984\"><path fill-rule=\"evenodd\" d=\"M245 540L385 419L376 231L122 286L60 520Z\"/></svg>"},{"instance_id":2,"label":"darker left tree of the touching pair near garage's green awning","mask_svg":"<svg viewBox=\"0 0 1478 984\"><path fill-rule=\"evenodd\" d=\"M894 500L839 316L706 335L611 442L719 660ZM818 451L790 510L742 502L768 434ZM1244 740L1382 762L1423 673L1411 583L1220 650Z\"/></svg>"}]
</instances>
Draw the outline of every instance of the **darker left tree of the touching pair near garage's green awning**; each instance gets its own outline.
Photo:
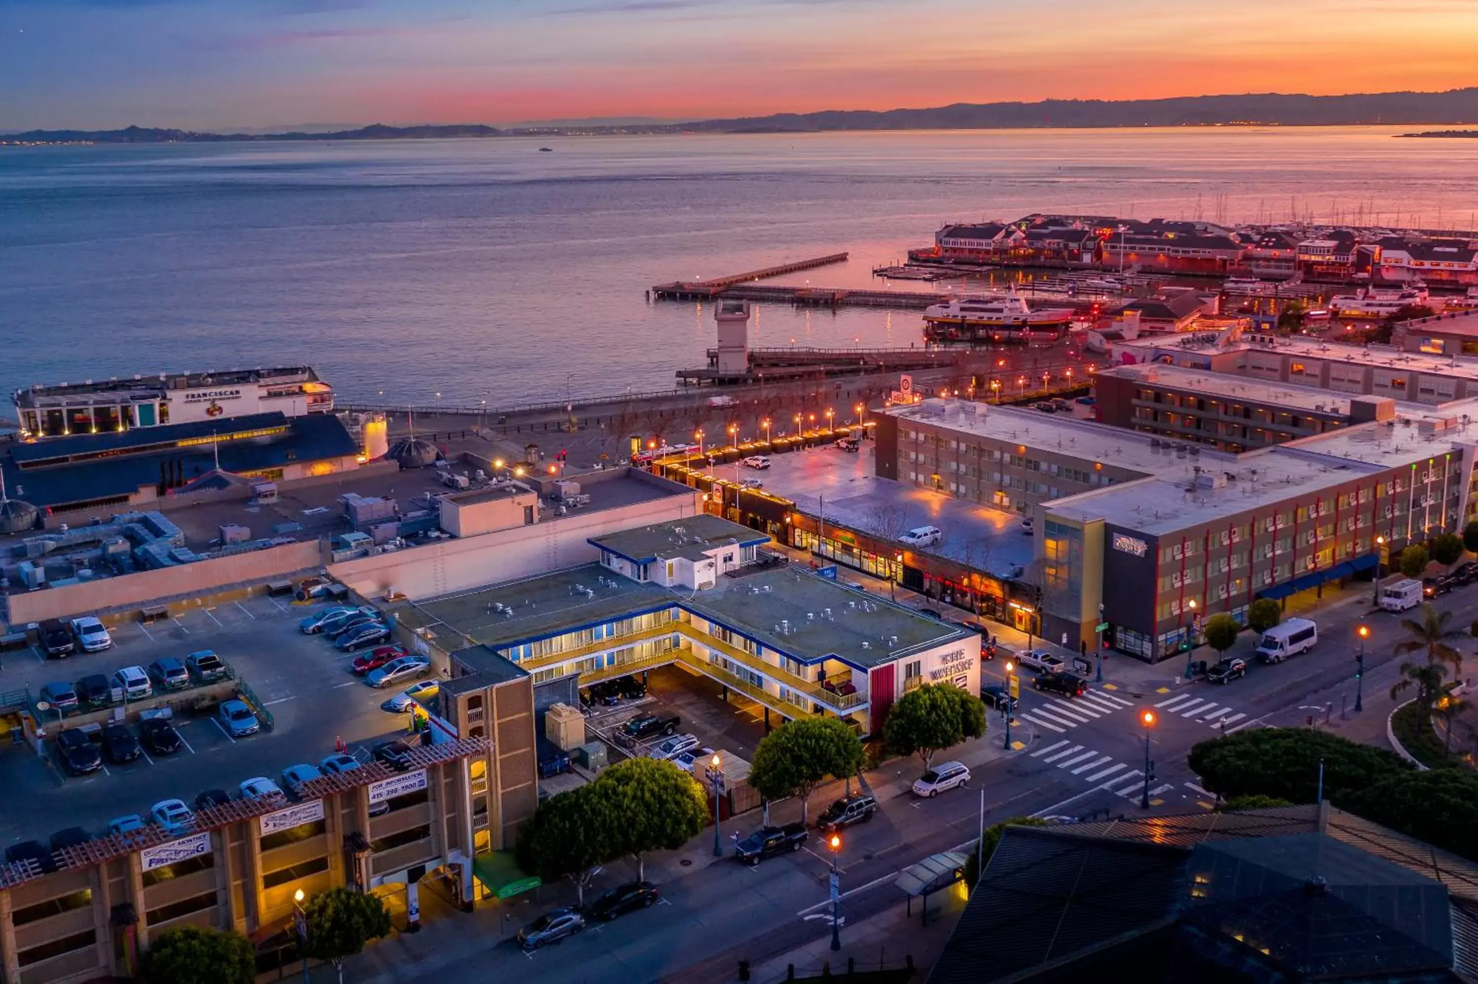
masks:
<instances>
[{"instance_id":1,"label":"darker left tree of the touching pair near garage's green awning","mask_svg":"<svg viewBox=\"0 0 1478 984\"><path fill-rule=\"evenodd\" d=\"M519 827L514 857L526 872L545 881L568 878L585 903L596 870L622 854L619 820L609 787L594 783L556 793Z\"/></svg>"}]
</instances>

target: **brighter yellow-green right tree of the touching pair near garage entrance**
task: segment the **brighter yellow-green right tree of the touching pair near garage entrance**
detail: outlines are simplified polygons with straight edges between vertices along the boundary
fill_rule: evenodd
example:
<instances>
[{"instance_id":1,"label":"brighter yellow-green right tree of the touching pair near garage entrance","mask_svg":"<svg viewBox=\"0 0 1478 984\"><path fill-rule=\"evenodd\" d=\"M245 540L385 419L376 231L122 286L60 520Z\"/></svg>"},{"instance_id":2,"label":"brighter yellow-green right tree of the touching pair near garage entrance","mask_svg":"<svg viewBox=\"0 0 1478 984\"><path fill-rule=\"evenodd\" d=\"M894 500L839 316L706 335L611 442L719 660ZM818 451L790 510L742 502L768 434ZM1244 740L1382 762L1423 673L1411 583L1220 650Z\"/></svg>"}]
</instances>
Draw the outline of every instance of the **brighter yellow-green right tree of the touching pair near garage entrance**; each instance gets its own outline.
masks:
<instances>
[{"instance_id":1,"label":"brighter yellow-green right tree of the touching pair near garage entrance","mask_svg":"<svg viewBox=\"0 0 1478 984\"><path fill-rule=\"evenodd\" d=\"M675 851L708 821L704 787L668 761L631 758L612 765L591 785L610 796L616 824L612 841L621 845L621 854L636 858L637 881L646 876L647 851Z\"/></svg>"}]
</instances>

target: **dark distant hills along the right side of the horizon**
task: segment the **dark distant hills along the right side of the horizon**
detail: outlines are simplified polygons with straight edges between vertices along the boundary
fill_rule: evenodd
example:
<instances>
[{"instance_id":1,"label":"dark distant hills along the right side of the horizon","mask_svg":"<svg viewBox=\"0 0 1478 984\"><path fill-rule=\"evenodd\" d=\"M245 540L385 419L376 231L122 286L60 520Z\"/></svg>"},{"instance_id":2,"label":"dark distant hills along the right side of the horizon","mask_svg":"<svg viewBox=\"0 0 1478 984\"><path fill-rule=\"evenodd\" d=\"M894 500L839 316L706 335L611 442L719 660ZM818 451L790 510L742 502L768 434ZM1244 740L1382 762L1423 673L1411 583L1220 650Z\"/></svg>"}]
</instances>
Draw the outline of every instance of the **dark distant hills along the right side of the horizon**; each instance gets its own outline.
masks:
<instances>
[{"instance_id":1,"label":"dark distant hills along the right side of the horizon","mask_svg":"<svg viewBox=\"0 0 1478 984\"><path fill-rule=\"evenodd\" d=\"M1182 96L1176 99L1046 99L959 102L933 109L831 109L704 120L667 130L774 133L803 130L995 130L1026 127L1355 126L1478 121L1478 89L1355 96Z\"/></svg>"}]
</instances>

